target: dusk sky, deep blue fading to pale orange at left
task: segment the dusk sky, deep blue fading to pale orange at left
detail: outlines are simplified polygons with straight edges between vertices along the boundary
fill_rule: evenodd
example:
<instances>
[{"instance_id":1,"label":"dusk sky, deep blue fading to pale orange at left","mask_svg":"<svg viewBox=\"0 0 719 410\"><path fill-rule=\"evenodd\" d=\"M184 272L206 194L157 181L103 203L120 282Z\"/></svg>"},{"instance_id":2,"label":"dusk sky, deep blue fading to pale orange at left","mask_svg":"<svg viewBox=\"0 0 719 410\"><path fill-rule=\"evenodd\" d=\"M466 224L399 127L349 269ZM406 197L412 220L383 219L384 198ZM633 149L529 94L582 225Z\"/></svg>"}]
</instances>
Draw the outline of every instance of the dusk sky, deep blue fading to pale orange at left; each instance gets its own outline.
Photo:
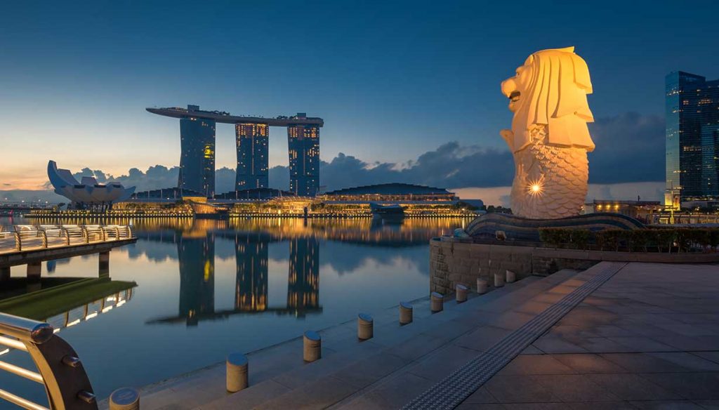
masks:
<instances>
[{"instance_id":1,"label":"dusk sky, deep blue fading to pale orange at left","mask_svg":"<svg viewBox=\"0 0 719 410\"><path fill-rule=\"evenodd\" d=\"M719 35L715 9L710 1L8 4L0 16L0 190L42 189L48 159L113 176L178 166L178 124L144 110L178 103L317 113L327 122L319 159L339 167L355 158L366 167L361 178L392 167L387 175L413 173L406 182L507 185L512 168L498 132L511 113L499 82L530 53L567 45L594 83L590 182L662 181L664 164L656 163L664 156L642 151L655 155L664 142L656 132L664 76L719 77L719 55L707 53ZM236 168L234 134L218 130L218 146L228 148L216 151L216 168ZM630 142L638 160L627 160L616 140ZM270 170L288 166L285 141L270 133ZM453 156L443 148L449 143L457 144ZM480 151L481 166L446 170L444 183L429 178L437 158L446 167ZM498 181L487 181L485 169Z\"/></svg>"}]
</instances>

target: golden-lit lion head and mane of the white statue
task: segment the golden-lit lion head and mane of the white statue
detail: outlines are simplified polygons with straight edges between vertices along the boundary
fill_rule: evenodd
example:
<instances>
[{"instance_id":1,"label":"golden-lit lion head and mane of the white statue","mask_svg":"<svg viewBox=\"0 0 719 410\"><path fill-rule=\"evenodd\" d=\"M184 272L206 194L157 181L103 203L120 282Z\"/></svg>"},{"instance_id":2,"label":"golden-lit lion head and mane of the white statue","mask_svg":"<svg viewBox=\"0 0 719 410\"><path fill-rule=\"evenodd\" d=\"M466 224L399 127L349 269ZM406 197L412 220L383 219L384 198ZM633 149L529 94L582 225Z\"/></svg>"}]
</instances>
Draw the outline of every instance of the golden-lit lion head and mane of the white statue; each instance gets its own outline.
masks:
<instances>
[{"instance_id":1,"label":"golden-lit lion head and mane of the white statue","mask_svg":"<svg viewBox=\"0 0 719 410\"><path fill-rule=\"evenodd\" d=\"M536 124L548 127L547 143L594 150L587 122L593 122L587 104L592 82L587 63L574 54L574 47L541 50L517 68L516 76L502 82L502 94L510 99L514 112L512 152L531 142L529 129Z\"/></svg>"}]
</instances>

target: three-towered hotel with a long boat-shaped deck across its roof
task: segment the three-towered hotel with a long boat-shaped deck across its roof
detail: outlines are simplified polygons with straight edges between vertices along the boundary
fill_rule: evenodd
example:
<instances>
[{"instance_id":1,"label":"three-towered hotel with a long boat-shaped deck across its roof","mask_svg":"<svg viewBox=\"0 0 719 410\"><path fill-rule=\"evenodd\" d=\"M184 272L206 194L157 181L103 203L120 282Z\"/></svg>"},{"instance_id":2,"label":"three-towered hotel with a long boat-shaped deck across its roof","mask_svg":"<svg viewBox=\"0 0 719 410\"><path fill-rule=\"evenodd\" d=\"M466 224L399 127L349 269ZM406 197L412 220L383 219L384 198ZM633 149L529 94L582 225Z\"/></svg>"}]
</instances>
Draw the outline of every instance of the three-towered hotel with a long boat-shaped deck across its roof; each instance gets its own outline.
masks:
<instances>
[{"instance_id":1,"label":"three-towered hotel with a long boat-shaped deck across its roof","mask_svg":"<svg viewBox=\"0 0 719 410\"><path fill-rule=\"evenodd\" d=\"M215 125L234 124L237 142L235 189L269 188L270 127L287 127L290 191L315 196L319 188L319 128L324 120L298 113L293 117L238 117L199 106L148 108L152 114L180 119L178 188L215 194Z\"/></svg>"}]
</instances>

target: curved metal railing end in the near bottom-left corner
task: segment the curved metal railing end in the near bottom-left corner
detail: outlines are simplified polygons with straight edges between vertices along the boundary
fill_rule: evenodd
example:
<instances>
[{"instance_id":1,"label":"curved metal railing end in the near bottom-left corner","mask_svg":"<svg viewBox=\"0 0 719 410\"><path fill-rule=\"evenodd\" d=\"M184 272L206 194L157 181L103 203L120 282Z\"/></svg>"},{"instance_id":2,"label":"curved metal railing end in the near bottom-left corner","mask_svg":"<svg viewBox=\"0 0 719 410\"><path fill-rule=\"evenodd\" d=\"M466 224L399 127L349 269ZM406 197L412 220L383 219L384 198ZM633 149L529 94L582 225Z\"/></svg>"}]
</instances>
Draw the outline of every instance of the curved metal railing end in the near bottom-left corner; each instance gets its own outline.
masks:
<instances>
[{"instance_id":1,"label":"curved metal railing end in the near bottom-left corner","mask_svg":"<svg viewBox=\"0 0 719 410\"><path fill-rule=\"evenodd\" d=\"M90 380L77 353L52 326L19 316L0 314L0 345L27 352L36 370L0 361L0 370L45 387L48 406L0 388L0 398L31 410L97 409Z\"/></svg>"}]
</instances>

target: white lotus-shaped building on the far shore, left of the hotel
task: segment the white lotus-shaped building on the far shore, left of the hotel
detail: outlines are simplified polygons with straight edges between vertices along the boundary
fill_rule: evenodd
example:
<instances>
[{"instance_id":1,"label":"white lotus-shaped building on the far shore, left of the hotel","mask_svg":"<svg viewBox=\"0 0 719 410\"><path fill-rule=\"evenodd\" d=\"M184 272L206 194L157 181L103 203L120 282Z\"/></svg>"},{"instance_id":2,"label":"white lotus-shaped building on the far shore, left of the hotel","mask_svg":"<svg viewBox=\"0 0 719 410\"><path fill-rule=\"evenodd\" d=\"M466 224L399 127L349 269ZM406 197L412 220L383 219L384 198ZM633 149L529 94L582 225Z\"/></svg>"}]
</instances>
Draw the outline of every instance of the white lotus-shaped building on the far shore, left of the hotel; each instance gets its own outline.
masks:
<instances>
[{"instance_id":1,"label":"white lotus-shaped building on the far shore, left of the hotel","mask_svg":"<svg viewBox=\"0 0 719 410\"><path fill-rule=\"evenodd\" d=\"M58 164L47 163L47 177L58 193L73 202L75 209L106 209L117 201L128 199L135 187L125 188L119 182L98 183L93 177L83 176L78 182L70 170L58 169Z\"/></svg>"}]
</instances>

